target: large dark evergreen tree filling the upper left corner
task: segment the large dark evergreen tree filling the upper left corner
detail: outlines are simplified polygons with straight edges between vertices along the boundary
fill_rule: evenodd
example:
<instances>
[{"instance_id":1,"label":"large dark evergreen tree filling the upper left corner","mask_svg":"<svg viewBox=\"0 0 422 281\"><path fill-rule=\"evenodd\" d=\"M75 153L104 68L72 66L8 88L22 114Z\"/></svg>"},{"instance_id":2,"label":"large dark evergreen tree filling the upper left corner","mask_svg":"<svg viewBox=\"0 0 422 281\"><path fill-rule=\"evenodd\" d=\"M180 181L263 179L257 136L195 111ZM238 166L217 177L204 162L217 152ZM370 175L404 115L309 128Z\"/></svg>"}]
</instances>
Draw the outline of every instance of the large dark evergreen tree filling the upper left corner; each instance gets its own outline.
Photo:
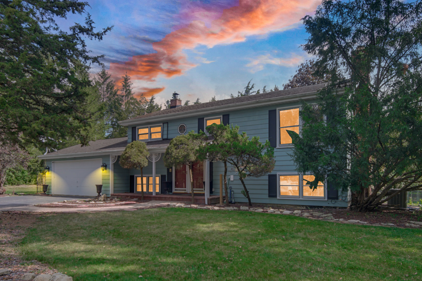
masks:
<instances>
[{"instance_id":1,"label":"large dark evergreen tree filling the upper left corner","mask_svg":"<svg viewBox=\"0 0 422 281\"><path fill-rule=\"evenodd\" d=\"M57 147L76 138L86 145L91 114L86 88L92 56L85 38L102 40L87 2L3 0L0 2L0 142ZM86 14L85 24L60 29L56 19Z\"/></svg>"}]
</instances>

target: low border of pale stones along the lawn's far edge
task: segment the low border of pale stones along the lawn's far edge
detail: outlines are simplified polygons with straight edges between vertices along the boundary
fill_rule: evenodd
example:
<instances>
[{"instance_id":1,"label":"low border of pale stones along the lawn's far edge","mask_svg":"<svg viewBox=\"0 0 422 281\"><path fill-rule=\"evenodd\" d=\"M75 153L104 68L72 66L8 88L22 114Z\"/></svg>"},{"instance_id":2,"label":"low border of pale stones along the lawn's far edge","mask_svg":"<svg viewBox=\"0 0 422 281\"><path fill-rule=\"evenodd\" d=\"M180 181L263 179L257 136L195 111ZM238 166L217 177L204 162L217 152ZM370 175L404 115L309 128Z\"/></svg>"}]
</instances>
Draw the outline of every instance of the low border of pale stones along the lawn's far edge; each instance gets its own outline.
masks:
<instances>
[{"instance_id":1,"label":"low border of pale stones along the lawn's far edge","mask_svg":"<svg viewBox=\"0 0 422 281\"><path fill-rule=\"evenodd\" d=\"M335 219L333 217L333 214L324 214L321 212L304 212L302 210L295 210L295 211L287 211L284 209L273 209L271 207L265 207L265 208L257 208L257 207L248 207L248 206L241 206L238 207L218 207L218 206L201 206L197 204L188 204L188 203L168 203L168 206L163 206L164 204L161 204L161 207L183 207L183 208L193 208L193 209L208 209L208 210L227 210L227 211L234 211L234 210L240 210L240 211L251 211L256 213L268 213L268 214L283 214L283 215L294 215L297 217L304 217L307 219L319 219L319 220L325 220L328 222L341 222L346 224L352 224L352 225L371 225L371 226L383 226L383 227L398 227L393 223L368 223L357 219ZM406 223L407 227L413 227L413 228L419 228L422 226L422 222L414 222L414 221L408 221Z\"/></svg>"}]
</instances>

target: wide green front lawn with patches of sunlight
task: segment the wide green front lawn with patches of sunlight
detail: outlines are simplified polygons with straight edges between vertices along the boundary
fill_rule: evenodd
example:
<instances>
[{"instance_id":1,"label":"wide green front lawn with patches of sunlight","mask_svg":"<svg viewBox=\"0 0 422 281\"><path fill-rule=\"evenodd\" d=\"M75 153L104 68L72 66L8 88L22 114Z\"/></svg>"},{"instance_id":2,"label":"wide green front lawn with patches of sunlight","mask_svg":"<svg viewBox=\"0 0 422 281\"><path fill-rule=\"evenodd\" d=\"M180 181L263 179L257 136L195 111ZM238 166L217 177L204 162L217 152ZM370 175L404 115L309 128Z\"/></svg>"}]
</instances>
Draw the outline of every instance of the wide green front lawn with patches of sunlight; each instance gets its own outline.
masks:
<instances>
[{"instance_id":1,"label":"wide green front lawn with patches of sunlight","mask_svg":"<svg viewBox=\"0 0 422 281\"><path fill-rule=\"evenodd\" d=\"M421 230L248 211L49 215L30 230L22 252L78 281L397 281L422 274Z\"/></svg>"}]
</instances>

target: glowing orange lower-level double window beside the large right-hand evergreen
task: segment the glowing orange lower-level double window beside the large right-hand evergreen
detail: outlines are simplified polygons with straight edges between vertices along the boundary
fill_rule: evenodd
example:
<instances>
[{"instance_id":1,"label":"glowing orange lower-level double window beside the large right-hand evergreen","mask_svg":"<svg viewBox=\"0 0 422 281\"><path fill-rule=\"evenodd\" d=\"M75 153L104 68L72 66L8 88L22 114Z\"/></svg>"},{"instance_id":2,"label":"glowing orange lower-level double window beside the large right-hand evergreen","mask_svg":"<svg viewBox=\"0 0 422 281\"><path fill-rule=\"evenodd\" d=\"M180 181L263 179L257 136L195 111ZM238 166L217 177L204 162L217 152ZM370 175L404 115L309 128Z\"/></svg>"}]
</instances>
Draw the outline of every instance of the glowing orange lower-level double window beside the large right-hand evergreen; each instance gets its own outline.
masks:
<instances>
[{"instance_id":1,"label":"glowing orange lower-level double window beside the large right-hand evergreen","mask_svg":"<svg viewBox=\"0 0 422 281\"><path fill-rule=\"evenodd\" d=\"M313 175L279 175L279 196L282 198L325 198L325 187L318 182L317 188L309 187L308 182L315 180Z\"/></svg>"}]
</instances>

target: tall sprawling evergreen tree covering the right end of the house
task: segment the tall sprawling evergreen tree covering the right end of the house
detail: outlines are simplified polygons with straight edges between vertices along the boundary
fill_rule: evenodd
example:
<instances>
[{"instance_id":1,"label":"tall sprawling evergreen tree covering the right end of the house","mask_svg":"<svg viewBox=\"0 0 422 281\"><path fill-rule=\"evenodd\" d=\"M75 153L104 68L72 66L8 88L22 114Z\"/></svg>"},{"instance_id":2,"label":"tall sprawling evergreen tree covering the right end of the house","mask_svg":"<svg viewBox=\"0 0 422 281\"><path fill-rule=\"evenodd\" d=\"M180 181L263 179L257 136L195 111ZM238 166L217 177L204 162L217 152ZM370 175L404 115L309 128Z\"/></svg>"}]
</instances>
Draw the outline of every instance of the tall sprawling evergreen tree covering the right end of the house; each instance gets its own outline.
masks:
<instances>
[{"instance_id":1,"label":"tall sprawling evergreen tree covering the right end of the house","mask_svg":"<svg viewBox=\"0 0 422 281\"><path fill-rule=\"evenodd\" d=\"M323 1L303 18L303 49L331 82L317 106L303 104L293 157L313 187L350 188L357 211L422 188L421 20L420 0Z\"/></svg>"}]
</instances>

